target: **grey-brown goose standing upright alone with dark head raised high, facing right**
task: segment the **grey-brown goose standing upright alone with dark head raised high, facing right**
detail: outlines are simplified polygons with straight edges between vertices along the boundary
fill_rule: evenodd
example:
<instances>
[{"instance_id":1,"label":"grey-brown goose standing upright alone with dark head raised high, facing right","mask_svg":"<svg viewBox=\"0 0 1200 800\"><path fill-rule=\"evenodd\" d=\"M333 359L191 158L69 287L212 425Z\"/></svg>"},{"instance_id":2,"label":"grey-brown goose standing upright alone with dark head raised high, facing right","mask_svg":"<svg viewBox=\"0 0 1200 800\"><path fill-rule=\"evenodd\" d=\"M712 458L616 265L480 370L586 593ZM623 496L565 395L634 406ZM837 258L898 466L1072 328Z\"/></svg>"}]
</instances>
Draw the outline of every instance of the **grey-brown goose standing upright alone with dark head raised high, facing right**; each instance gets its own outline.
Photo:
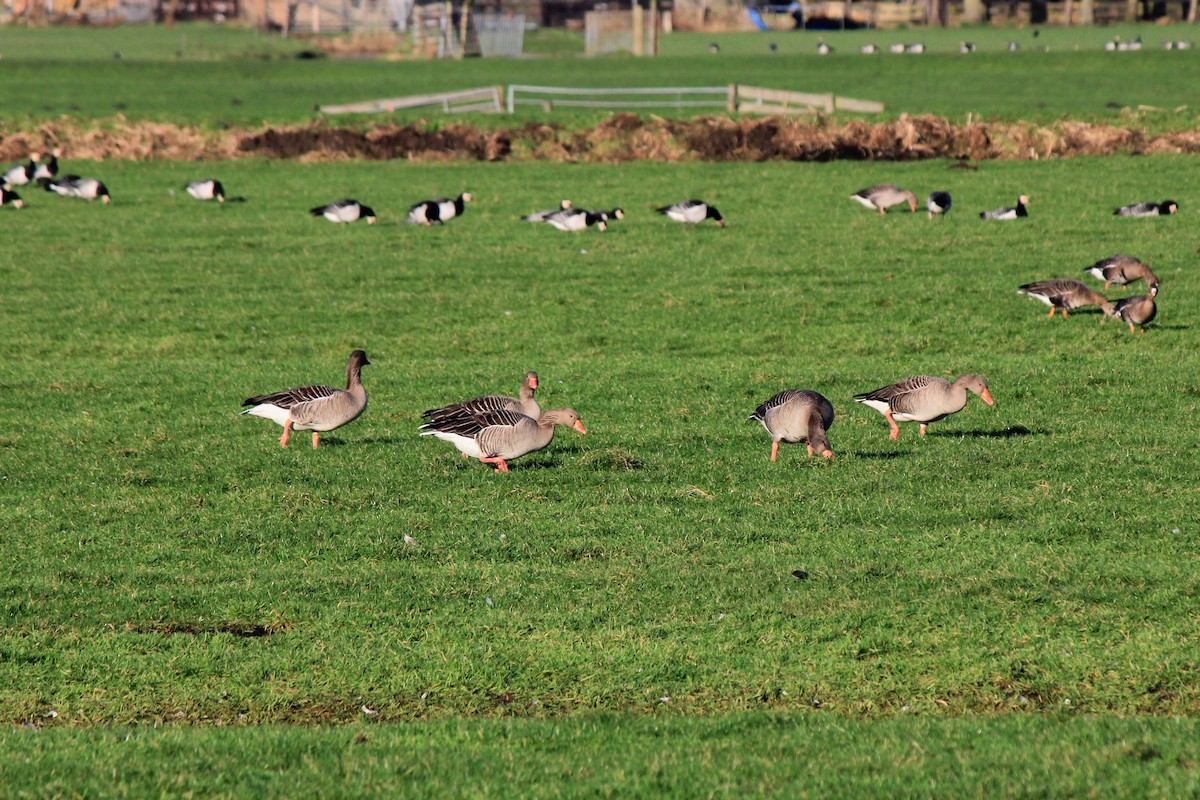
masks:
<instances>
[{"instance_id":1,"label":"grey-brown goose standing upright alone with dark head raised high, facing right","mask_svg":"<svg viewBox=\"0 0 1200 800\"><path fill-rule=\"evenodd\" d=\"M253 407L242 414L262 416L282 425L281 447L288 446L288 434L293 429L312 431L312 449L316 450L323 432L353 422L366 410L367 390L362 386L362 367L368 363L367 354L355 350L346 363L346 389L296 386L274 395L259 395L242 403Z\"/></svg>"}]
</instances>

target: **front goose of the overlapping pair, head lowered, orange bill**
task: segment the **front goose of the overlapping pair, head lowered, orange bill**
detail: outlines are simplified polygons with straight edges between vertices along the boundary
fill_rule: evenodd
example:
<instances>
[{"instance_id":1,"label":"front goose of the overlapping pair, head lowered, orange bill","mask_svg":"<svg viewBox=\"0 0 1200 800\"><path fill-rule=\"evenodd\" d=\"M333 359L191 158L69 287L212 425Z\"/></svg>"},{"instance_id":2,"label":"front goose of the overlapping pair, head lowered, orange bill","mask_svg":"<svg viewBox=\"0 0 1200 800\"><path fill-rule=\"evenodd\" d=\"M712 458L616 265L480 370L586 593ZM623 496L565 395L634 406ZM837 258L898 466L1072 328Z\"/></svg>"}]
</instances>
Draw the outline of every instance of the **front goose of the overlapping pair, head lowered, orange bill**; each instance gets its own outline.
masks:
<instances>
[{"instance_id":1,"label":"front goose of the overlapping pair, head lowered, orange bill","mask_svg":"<svg viewBox=\"0 0 1200 800\"><path fill-rule=\"evenodd\" d=\"M517 411L461 414L425 423L421 435L449 441L467 458L496 464L497 473L506 473L514 458L548 445L558 425L588 432L575 409L559 408L542 411L536 420Z\"/></svg>"}]
</instances>

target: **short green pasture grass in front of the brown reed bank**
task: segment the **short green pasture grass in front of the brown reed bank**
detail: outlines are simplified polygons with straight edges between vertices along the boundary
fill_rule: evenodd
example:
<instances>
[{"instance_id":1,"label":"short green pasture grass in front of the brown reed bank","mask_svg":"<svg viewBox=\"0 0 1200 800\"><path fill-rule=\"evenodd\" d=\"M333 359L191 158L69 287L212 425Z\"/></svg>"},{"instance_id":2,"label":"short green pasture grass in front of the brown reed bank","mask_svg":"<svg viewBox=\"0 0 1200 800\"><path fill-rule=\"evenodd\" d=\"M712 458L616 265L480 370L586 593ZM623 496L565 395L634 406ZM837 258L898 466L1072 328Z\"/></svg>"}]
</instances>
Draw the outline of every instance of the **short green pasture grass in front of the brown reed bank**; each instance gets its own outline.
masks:
<instances>
[{"instance_id":1,"label":"short green pasture grass in front of the brown reed bank","mask_svg":"<svg viewBox=\"0 0 1200 800\"><path fill-rule=\"evenodd\" d=\"M2 213L0 709L42 730L7 734L23 758L0 770L30 794L128 753L128 783L97 793L290 794L262 764L313 758L367 789L486 793L466 776L487 772L600 794L629 769L631 789L694 796L678 766L738 794L764 769L739 741L858 776L812 794L938 793L908 781L961 763L968 729L978 766L949 794L1195 792L1194 160L71 168L114 204L29 193ZM247 201L182 197L200 172ZM955 210L846 199L880 180ZM461 190L464 218L402 224ZM1030 219L974 216L1021 192ZM307 216L347 194L380 223ZM730 227L652 212L690 196ZM1111 216L1159 196L1183 211ZM516 221L560 197L629 218ZM1114 252L1163 278L1144 336L1015 294ZM337 383L356 347L371 407L320 450L236 416ZM529 368L589 435L503 476L415 435L421 409ZM850 401L922 372L979 372L997 405L893 443ZM790 386L838 409L832 462L770 464L745 422ZM778 745L748 733L764 718ZM462 770L463 739L490 736L545 766L479 746ZM178 742L200 756L176 764ZM1050 766L1063 753L1078 769ZM205 778L208 759L263 783ZM980 783L1012 764L1012 786Z\"/></svg>"}]
</instances>

